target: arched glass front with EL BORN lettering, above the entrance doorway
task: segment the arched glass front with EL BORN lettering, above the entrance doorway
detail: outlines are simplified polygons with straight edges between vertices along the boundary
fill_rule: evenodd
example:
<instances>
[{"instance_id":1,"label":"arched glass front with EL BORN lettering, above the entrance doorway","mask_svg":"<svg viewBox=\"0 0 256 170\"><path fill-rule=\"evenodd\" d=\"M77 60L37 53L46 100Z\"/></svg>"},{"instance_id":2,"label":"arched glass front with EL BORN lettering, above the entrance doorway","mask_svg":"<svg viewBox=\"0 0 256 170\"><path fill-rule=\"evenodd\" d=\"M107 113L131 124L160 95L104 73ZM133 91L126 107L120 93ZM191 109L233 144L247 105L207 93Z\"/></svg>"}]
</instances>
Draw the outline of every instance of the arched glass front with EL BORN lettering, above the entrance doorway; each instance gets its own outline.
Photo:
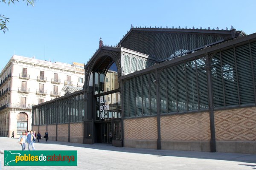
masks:
<instances>
[{"instance_id":1,"label":"arched glass front with EL BORN lettering, above the entrance doorway","mask_svg":"<svg viewBox=\"0 0 256 170\"><path fill-rule=\"evenodd\" d=\"M110 66L109 66L110 65ZM107 71L106 71L107 70ZM121 117L121 94L116 63L108 57L94 72L95 120ZM117 91L116 91L117 90Z\"/></svg>"}]
</instances>

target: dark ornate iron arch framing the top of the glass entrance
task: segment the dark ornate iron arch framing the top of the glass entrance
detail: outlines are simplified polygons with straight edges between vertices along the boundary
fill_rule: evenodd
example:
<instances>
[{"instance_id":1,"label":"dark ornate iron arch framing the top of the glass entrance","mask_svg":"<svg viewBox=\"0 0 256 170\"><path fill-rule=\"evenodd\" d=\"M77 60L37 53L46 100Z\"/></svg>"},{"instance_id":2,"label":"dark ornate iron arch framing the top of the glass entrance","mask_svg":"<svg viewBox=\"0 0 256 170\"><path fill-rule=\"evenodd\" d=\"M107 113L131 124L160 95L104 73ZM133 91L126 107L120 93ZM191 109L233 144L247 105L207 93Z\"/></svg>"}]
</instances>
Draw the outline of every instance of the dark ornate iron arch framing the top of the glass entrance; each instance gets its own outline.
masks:
<instances>
[{"instance_id":1,"label":"dark ornate iron arch framing the top of the glass entrance","mask_svg":"<svg viewBox=\"0 0 256 170\"><path fill-rule=\"evenodd\" d=\"M113 59L113 61L116 63L117 71L118 71L118 77L121 76L121 53L119 51L111 51L111 50L104 50L101 49L96 56L94 56L89 63L89 65L86 65L85 68L85 87L89 87L89 81L90 81L90 73L93 71L93 68L95 67L96 63L104 56L109 56ZM110 65L109 65L110 67Z\"/></svg>"}]
</instances>

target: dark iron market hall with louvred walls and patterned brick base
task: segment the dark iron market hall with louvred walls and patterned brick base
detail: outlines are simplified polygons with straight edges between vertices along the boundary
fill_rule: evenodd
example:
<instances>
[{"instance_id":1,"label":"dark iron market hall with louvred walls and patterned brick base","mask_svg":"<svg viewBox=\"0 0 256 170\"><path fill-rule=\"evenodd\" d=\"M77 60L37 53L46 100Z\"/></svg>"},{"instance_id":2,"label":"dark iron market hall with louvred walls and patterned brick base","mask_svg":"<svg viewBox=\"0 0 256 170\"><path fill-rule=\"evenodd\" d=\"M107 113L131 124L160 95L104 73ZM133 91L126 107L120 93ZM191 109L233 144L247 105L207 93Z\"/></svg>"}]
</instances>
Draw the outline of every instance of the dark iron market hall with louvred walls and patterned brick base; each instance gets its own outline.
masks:
<instances>
[{"instance_id":1,"label":"dark iron market hall with louvred walls and patterned brick base","mask_svg":"<svg viewBox=\"0 0 256 170\"><path fill-rule=\"evenodd\" d=\"M81 91L33 106L49 140L256 153L256 33L134 28L99 42Z\"/></svg>"}]
</instances>

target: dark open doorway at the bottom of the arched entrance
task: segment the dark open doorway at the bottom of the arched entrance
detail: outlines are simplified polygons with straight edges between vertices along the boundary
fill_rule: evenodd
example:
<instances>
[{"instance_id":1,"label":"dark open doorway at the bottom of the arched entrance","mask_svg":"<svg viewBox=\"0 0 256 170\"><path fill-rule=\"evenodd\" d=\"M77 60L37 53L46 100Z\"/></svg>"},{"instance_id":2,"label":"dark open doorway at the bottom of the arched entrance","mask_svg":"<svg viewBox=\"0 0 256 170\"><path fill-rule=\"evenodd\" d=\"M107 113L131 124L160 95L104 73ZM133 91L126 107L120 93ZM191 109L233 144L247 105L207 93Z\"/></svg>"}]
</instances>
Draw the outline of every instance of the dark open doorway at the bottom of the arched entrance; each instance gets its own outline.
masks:
<instances>
[{"instance_id":1,"label":"dark open doorway at the bottom of the arched entrance","mask_svg":"<svg viewBox=\"0 0 256 170\"><path fill-rule=\"evenodd\" d=\"M96 123L96 142L112 143L111 122Z\"/></svg>"}]
</instances>

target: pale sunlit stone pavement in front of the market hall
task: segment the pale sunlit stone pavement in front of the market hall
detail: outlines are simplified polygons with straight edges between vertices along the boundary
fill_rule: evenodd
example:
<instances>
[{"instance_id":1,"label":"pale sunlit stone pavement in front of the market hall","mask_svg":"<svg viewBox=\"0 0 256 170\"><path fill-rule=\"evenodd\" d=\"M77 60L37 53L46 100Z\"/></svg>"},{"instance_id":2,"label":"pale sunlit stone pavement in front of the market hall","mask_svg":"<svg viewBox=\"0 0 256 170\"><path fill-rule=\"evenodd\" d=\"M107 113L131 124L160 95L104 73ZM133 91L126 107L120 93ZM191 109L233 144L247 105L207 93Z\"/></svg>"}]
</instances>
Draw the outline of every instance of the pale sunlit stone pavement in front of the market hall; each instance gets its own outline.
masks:
<instances>
[{"instance_id":1,"label":"pale sunlit stone pavement in front of the market hall","mask_svg":"<svg viewBox=\"0 0 256 170\"><path fill-rule=\"evenodd\" d=\"M113 147L41 140L36 150L77 150L78 166L4 166L1 170L254 170L256 155ZM21 150L18 139L0 137L0 151Z\"/></svg>"}]
</instances>

